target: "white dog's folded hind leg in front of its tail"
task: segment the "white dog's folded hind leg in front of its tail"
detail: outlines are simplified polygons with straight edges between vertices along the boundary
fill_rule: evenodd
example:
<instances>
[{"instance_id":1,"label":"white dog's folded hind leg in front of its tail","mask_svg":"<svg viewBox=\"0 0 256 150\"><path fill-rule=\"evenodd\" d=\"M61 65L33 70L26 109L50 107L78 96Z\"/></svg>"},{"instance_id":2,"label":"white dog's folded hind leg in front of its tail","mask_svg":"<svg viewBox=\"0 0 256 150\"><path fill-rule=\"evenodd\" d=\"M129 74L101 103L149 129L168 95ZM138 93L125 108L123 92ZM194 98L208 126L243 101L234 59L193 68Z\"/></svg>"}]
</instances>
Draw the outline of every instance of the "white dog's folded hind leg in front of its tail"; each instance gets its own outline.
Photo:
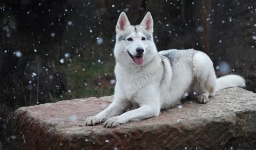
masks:
<instances>
[{"instance_id":1,"label":"white dog's folded hind leg in front of its tail","mask_svg":"<svg viewBox=\"0 0 256 150\"><path fill-rule=\"evenodd\" d=\"M217 78L214 72L211 59L203 52L197 52L193 55L193 73L194 80L198 82L199 89L198 102L207 103L209 95L215 94Z\"/></svg>"}]
</instances>

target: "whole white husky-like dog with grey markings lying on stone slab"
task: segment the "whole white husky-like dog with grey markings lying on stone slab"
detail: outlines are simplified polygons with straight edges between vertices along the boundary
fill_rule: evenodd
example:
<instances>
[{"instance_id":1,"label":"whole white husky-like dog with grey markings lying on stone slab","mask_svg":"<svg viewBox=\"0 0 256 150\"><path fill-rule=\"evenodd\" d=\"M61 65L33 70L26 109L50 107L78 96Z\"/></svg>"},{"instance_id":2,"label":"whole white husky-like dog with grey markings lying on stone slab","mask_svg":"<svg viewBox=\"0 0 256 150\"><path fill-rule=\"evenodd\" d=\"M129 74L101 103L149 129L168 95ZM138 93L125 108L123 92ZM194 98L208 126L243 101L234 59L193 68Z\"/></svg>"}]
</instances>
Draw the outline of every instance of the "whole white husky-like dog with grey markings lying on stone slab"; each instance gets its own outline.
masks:
<instances>
[{"instance_id":1,"label":"whole white husky-like dog with grey markings lying on stone slab","mask_svg":"<svg viewBox=\"0 0 256 150\"><path fill-rule=\"evenodd\" d=\"M105 122L104 127L114 127L157 117L160 110L179 104L184 95L205 104L218 90L245 87L244 78L238 75L217 78L213 62L203 52L194 49L158 52L150 12L135 26L130 25L124 12L120 14L114 57L113 102L98 115L86 118L85 126Z\"/></svg>"}]
</instances>

